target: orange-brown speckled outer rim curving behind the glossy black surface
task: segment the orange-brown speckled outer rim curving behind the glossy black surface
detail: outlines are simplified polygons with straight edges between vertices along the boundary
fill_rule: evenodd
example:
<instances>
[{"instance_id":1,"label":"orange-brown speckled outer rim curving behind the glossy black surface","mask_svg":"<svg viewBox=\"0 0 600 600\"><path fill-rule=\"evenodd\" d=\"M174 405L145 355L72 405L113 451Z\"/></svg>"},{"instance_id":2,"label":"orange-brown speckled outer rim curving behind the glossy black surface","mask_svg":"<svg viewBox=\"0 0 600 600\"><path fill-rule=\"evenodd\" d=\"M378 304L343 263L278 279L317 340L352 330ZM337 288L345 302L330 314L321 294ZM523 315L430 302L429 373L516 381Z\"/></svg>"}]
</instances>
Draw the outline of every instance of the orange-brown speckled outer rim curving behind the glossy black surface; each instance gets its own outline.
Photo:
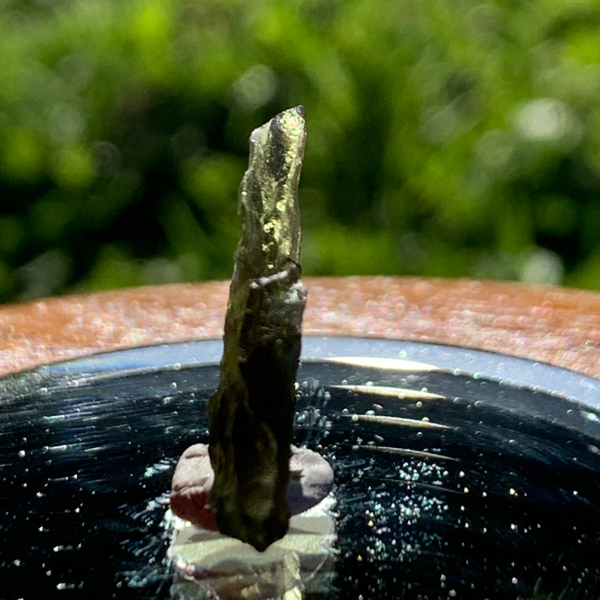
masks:
<instances>
[{"instance_id":1,"label":"orange-brown speckled outer rim curving behind the glossy black surface","mask_svg":"<svg viewBox=\"0 0 600 600\"><path fill-rule=\"evenodd\" d=\"M600 375L600 294L506 281L305 278L304 335L428 341ZM229 282L0 307L0 374L146 344L220 338Z\"/></svg>"}]
</instances>

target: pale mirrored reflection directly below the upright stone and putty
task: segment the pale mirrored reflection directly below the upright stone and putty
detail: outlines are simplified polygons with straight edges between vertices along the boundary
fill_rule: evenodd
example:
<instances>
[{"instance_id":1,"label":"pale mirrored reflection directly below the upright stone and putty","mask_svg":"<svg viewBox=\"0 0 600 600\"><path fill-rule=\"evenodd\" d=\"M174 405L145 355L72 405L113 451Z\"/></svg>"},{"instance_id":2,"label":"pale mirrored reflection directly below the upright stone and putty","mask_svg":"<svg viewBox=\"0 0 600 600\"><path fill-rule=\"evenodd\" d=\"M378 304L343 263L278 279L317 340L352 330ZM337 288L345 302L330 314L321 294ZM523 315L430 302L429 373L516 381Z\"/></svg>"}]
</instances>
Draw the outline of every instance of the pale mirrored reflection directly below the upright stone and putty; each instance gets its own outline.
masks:
<instances>
[{"instance_id":1,"label":"pale mirrored reflection directly below the upright stone and putty","mask_svg":"<svg viewBox=\"0 0 600 600\"><path fill-rule=\"evenodd\" d=\"M330 589L334 577L335 499L290 519L287 534L264 552L219 532L176 520L169 548L177 600L292 600Z\"/></svg>"}]
</instances>

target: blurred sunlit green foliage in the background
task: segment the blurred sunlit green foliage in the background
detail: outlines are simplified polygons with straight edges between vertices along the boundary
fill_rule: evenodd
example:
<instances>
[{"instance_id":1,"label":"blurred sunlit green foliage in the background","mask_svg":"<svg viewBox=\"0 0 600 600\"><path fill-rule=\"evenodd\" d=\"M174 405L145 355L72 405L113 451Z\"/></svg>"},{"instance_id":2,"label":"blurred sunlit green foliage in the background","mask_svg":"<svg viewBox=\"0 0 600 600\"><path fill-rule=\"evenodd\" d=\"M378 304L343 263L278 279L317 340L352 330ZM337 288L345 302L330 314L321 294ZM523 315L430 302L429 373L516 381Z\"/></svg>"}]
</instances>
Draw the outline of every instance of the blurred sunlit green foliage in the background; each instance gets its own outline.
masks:
<instances>
[{"instance_id":1,"label":"blurred sunlit green foliage in the background","mask_svg":"<svg viewBox=\"0 0 600 600\"><path fill-rule=\"evenodd\" d=\"M600 289L596 0L0 0L0 301L227 278L304 104L305 274Z\"/></svg>"}]
</instances>

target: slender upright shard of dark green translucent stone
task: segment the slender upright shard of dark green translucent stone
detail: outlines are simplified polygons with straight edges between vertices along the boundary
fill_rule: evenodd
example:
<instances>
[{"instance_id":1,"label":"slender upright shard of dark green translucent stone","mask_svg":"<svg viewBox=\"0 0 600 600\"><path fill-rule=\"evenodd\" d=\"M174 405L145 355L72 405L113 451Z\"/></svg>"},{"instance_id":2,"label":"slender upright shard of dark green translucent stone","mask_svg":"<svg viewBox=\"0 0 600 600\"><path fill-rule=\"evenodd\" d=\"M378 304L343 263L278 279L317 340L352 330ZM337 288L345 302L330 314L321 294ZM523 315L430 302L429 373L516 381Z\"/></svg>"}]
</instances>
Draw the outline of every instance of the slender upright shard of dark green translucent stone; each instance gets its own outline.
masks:
<instances>
[{"instance_id":1,"label":"slender upright shard of dark green translucent stone","mask_svg":"<svg viewBox=\"0 0 600 600\"><path fill-rule=\"evenodd\" d=\"M290 518L286 489L306 303L298 208L305 141L302 106L250 136L221 380L209 402L210 503L221 533L257 550L282 538Z\"/></svg>"}]
</instances>

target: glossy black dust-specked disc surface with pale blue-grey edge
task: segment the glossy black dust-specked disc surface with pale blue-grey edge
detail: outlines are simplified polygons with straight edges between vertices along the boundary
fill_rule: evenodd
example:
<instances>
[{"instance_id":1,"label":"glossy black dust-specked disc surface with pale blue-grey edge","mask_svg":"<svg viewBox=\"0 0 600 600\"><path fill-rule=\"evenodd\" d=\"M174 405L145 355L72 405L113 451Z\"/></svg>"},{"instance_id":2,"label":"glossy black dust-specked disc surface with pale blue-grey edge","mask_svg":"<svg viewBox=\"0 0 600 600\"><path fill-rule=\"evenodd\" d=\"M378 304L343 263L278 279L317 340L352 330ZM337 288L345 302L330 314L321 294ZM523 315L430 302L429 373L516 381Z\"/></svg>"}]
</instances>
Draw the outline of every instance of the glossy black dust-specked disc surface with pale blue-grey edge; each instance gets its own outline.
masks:
<instances>
[{"instance_id":1,"label":"glossy black dust-specked disc surface with pale blue-grey edge","mask_svg":"<svg viewBox=\"0 0 600 600\"><path fill-rule=\"evenodd\" d=\"M220 351L0 380L0 598L169 598L170 477L208 440ZM296 441L331 462L338 502L322 597L600 597L599 386L491 353L306 338Z\"/></svg>"}]
</instances>

